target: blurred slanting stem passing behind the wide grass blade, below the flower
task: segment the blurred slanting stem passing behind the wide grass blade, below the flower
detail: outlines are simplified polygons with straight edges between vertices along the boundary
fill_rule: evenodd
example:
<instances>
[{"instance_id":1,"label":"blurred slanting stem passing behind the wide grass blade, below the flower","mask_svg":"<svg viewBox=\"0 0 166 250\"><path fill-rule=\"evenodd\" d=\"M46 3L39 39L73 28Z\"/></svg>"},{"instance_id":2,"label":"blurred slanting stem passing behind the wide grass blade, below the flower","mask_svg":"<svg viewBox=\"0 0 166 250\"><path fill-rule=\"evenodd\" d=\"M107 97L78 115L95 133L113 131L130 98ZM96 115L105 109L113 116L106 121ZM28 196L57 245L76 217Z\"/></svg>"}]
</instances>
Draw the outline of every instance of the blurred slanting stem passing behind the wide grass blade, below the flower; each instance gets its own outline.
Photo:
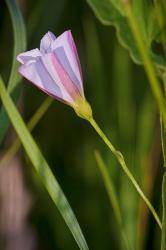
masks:
<instances>
[{"instance_id":1,"label":"blurred slanting stem passing behind the wide grass blade, below the flower","mask_svg":"<svg viewBox=\"0 0 166 250\"><path fill-rule=\"evenodd\" d=\"M47 97L45 101L42 103L42 105L39 107L39 109L35 112L35 114L32 116L30 121L27 124L27 127L30 131L34 129L34 127L37 125L37 123L40 121L44 113L47 111L47 109L50 107L53 99L50 97ZM9 147L5 155L0 159L0 166L6 165L12 157L16 154L20 147L21 143L19 139L16 139L13 144Z\"/></svg>"}]
</instances>

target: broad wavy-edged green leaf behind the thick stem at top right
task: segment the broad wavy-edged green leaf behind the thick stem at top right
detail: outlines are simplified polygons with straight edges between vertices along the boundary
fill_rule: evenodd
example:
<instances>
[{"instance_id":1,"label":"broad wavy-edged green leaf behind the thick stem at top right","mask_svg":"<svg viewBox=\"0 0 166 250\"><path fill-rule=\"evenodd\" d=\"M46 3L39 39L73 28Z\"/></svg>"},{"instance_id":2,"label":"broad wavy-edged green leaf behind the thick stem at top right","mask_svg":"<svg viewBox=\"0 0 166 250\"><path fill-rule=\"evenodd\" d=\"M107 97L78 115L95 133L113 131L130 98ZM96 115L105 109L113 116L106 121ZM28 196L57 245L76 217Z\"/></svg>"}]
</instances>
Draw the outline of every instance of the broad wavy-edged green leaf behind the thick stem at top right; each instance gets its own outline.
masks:
<instances>
[{"instance_id":1,"label":"broad wavy-edged green leaf behind the thick stem at top right","mask_svg":"<svg viewBox=\"0 0 166 250\"><path fill-rule=\"evenodd\" d=\"M142 59L137 49L136 42L128 25L128 20L122 14L115 0L87 0L95 15L104 25L113 25L117 30L117 36L122 46L129 50L135 63L141 64ZM119 2L119 1L118 1ZM162 58L154 54L151 50L152 42L155 40L158 31L157 20L154 15L154 8L150 1L133 1L133 12L139 22L142 32L142 39L147 44L149 53L156 64L163 63Z\"/></svg>"}]
</instances>

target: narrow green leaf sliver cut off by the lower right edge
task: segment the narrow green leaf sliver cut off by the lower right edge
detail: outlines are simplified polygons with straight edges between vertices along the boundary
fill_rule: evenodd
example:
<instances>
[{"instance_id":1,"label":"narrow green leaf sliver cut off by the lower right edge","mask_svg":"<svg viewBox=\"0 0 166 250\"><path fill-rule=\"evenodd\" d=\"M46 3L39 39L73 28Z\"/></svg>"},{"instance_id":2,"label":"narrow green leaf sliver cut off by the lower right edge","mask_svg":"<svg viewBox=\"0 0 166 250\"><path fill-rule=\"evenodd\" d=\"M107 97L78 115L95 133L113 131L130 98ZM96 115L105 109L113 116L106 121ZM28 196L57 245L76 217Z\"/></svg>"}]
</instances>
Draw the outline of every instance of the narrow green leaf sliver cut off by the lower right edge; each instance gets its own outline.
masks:
<instances>
[{"instance_id":1,"label":"narrow green leaf sliver cut off by the lower right edge","mask_svg":"<svg viewBox=\"0 0 166 250\"><path fill-rule=\"evenodd\" d=\"M166 250L166 173L163 176L163 183L162 183L162 202L163 202L163 219L162 219L161 250Z\"/></svg>"}]
</instances>

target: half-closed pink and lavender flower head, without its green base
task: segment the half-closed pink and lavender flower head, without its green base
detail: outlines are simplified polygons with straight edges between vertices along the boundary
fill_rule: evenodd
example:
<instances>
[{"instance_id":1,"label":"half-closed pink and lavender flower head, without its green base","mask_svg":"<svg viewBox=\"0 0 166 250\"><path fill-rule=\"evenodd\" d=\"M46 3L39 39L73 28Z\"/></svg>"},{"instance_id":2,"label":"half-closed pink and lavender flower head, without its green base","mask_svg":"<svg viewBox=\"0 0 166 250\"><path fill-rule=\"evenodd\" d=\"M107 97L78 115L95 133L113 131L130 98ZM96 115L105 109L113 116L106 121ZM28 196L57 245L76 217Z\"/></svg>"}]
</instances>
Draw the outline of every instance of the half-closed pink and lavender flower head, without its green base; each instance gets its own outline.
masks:
<instances>
[{"instance_id":1,"label":"half-closed pink and lavender flower head, without its green base","mask_svg":"<svg viewBox=\"0 0 166 250\"><path fill-rule=\"evenodd\" d=\"M19 72L48 95L71 106L84 98L81 66L71 31L59 37L47 32L40 50L33 49L17 56Z\"/></svg>"}]
</instances>

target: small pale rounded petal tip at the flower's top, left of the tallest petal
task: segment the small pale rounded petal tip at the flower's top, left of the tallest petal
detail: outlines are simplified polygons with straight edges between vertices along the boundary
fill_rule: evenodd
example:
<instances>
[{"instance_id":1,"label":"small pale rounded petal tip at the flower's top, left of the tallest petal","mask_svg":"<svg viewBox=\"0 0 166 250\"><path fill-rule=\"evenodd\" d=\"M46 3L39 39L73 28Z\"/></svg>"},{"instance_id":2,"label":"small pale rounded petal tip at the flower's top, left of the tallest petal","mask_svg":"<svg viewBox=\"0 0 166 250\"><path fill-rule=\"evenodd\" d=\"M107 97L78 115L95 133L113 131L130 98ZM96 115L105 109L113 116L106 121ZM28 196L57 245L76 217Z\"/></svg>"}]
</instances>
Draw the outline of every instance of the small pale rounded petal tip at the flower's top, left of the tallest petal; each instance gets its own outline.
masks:
<instances>
[{"instance_id":1,"label":"small pale rounded petal tip at the flower's top, left of the tallest petal","mask_svg":"<svg viewBox=\"0 0 166 250\"><path fill-rule=\"evenodd\" d=\"M52 32L48 31L41 39L40 51L42 53L51 52L51 45L55 41L55 39L56 39L55 35Z\"/></svg>"}]
</instances>

